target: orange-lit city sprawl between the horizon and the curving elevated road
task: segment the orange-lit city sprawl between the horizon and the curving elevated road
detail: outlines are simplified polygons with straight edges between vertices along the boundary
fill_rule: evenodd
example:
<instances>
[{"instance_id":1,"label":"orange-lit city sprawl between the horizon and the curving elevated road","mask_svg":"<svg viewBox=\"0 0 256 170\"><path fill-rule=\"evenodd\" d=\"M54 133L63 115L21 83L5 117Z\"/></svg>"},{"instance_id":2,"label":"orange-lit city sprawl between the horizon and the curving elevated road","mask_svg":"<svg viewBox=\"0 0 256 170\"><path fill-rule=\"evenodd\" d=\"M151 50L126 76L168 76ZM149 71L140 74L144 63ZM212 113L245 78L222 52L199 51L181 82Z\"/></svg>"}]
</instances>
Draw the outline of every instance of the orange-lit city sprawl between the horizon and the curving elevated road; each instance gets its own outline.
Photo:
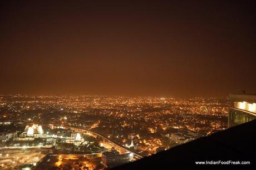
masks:
<instances>
[{"instance_id":1,"label":"orange-lit city sprawl between the horizon and the curving elevated road","mask_svg":"<svg viewBox=\"0 0 256 170\"><path fill-rule=\"evenodd\" d=\"M227 128L230 104L228 99L218 98L16 95L1 97L1 108L8 112L0 119L81 126L146 156L159 147L170 148ZM131 133L133 140L128 137ZM32 138L26 135L20 138ZM40 135L39 131L33 133Z\"/></svg>"}]
</instances>

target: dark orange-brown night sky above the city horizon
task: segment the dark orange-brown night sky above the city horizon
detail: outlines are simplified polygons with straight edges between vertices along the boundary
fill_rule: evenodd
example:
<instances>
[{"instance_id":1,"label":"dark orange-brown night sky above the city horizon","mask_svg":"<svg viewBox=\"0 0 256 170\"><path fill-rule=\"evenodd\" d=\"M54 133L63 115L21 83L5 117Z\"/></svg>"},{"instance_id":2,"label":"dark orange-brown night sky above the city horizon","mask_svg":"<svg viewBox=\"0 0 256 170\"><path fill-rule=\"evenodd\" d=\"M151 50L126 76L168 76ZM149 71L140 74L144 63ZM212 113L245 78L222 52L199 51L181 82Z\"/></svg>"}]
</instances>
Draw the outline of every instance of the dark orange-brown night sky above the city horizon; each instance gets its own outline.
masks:
<instances>
[{"instance_id":1,"label":"dark orange-brown night sky above the city horizon","mask_svg":"<svg viewBox=\"0 0 256 170\"><path fill-rule=\"evenodd\" d=\"M1 1L0 93L256 93L253 1Z\"/></svg>"}]
</instances>

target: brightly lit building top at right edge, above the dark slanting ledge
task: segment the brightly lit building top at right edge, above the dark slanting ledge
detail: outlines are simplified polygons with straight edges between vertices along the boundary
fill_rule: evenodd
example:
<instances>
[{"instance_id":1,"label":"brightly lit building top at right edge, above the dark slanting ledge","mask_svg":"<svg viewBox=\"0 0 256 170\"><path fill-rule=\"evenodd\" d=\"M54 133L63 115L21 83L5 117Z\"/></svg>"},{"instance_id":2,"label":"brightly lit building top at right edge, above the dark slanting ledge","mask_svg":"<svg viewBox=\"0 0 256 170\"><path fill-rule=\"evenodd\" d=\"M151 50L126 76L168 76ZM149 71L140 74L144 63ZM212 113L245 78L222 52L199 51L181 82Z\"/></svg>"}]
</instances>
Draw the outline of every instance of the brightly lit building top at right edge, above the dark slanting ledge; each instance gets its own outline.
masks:
<instances>
[{"instance_id":1,"label":"brightly lit building top at right edge, above the dark slanting ledge","mask_svg":"<svg viewBox=\"0 0 256 170\"><path fill-rule=\"evenodd\" d=\"M256 94L230 94L234 107L229 109L229 127L256 119Z\"/></svg>"}]
</instances>

